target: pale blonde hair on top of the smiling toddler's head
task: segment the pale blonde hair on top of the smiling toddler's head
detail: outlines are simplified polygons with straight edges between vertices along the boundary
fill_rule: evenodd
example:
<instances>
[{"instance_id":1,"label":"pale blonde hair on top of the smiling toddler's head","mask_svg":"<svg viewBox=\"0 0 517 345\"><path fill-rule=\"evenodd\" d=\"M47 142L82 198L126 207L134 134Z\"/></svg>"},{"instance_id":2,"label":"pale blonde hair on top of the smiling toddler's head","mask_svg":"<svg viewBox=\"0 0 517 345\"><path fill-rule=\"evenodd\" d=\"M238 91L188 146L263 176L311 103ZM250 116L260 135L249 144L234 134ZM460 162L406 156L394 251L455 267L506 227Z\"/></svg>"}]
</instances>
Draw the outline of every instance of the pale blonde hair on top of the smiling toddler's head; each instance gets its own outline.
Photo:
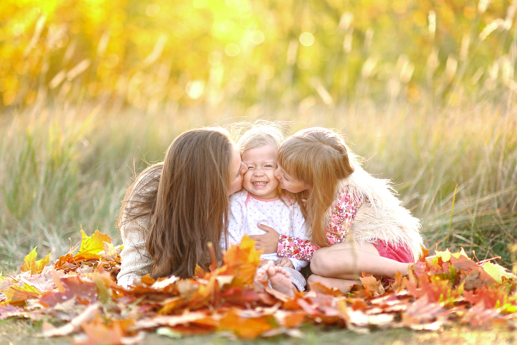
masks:
<instances>
[{"instance_id":1,"label":"pale blonde hair on top of the smiling toddler's head","mask_svg":"<svg viewBox=\"0 0 517 345\"><path fill-rule=\"evenodd\" d=\"M242 156L246 151L261 147L264 145L271 145L278 153L285 136L282 133L282 128L275 126L274 123L269 125L252 126L249 130L244 132L237 141L237 148Z\"/></svg>"}]
</instances>

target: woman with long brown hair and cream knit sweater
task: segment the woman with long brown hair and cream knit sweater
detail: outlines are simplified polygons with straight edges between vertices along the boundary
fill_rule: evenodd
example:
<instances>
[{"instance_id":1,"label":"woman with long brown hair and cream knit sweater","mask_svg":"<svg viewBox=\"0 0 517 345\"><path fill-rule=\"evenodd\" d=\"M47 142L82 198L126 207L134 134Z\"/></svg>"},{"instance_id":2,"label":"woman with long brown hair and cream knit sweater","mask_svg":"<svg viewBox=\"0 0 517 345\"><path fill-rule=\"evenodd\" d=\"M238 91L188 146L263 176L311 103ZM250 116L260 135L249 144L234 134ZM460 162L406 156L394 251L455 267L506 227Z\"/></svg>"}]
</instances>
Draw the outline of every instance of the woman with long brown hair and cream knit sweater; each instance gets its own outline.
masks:
<instances>
[{"instance_id":1,"label":"woman with long brown hair and cream knit sweater","mask_svg":"<svg viewBox=\"0 0 517 345\"><path fill-rule=\"evenodd\" d=\"M229 196L242 187L243 164L229 132L219 127L180 134L163 162L145 169L129 187L118 217L124 249L118 284L194 275L208 268L207 243L227 232Z\"/></svg>"}]
</instances>

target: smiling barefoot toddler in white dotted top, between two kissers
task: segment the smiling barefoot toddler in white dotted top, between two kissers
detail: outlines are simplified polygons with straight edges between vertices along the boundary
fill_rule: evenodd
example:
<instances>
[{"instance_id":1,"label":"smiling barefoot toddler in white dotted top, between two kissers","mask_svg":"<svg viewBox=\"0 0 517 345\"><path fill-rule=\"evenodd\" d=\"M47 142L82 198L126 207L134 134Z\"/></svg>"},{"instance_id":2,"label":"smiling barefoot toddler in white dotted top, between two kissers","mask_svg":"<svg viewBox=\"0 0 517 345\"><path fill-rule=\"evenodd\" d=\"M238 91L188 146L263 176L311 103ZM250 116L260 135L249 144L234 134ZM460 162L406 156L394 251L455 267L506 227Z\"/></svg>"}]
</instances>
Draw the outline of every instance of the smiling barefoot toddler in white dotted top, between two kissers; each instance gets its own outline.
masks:
<instances>
[{"instance_id":1,"label":"smiling barefoot toddler in white dotted top, between two kissers","mask_svg":"<svg viewBox=\"0 0 517 345\"><path fill-rule=\"evenodd\" d=\"M278 229L283 235L306 238L299 204L282 196L278 179L273 176L283 139L277 128L259 126L246 131L237 142L248 170L242 180L244 189L230 197L229 244L238 244L244 235L263 234L258 223ZM290 282L300 291L305 289L306 280L298 271L308 262L279 258L276 253L263 254L262 259L270 262L258 269L257 281L269 280L272 288L288 295L293 294Z\"/></svg>"}]
</instances>

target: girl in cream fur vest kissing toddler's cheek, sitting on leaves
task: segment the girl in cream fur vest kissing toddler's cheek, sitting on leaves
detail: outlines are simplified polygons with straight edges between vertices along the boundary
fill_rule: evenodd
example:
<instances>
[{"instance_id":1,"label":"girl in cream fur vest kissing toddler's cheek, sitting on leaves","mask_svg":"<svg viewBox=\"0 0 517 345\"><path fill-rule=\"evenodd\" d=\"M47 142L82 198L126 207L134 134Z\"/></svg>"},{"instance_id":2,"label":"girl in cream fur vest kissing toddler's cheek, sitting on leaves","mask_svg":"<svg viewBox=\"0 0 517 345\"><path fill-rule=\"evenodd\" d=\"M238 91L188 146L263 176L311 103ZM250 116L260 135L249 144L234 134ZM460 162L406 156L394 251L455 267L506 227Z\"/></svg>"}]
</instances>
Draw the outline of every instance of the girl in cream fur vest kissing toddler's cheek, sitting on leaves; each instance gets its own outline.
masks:
<instances>
[{"instance_id":1,"label":"girl in cream fur vest kissing toddler's cheek, sitting on leaves","mask_svg":"<svg viewBox=\"0 0 517 345\"><path fill-rule=\"evenodd\" d=\"M312 241L270 227L251 236L257 249L311 261L309 282L343 292L361 271L377 277L407 274L422 248L420 222L402 207L386 179L364 171L343 138L326 128L301 130L278 154L275 176L302 207Z\"/></svg>"}]
</instances>

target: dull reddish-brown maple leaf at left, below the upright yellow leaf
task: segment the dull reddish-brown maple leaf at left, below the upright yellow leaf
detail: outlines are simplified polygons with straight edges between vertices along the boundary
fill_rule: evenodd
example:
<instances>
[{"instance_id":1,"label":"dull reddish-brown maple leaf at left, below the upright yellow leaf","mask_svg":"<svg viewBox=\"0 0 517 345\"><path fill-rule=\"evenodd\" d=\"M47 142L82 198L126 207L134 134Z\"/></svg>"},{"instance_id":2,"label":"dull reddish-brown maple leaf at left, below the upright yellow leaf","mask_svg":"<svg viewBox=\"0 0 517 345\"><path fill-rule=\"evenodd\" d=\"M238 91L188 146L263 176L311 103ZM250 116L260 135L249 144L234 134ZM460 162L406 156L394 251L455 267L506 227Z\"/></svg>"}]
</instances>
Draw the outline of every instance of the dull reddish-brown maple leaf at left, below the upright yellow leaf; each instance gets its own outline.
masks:
<instances>
[{"instance_id":1,"label":"dull reddish-brown maple leaf at left, below the upright yellow leaf","mask_svg":"<svg viewBox=\"0 0 517 345\"><path fill-rule=\"evenodd\" d=\"M95 283L82 281L79 276L68 275L59 278L64 291L48 291L43 293L40 301L49 307L53 307L58 303L69 301L73 297L77 297L78 301L83 304L89 304L97 301L97 287Z\"/></svg>"}]
</instances>

